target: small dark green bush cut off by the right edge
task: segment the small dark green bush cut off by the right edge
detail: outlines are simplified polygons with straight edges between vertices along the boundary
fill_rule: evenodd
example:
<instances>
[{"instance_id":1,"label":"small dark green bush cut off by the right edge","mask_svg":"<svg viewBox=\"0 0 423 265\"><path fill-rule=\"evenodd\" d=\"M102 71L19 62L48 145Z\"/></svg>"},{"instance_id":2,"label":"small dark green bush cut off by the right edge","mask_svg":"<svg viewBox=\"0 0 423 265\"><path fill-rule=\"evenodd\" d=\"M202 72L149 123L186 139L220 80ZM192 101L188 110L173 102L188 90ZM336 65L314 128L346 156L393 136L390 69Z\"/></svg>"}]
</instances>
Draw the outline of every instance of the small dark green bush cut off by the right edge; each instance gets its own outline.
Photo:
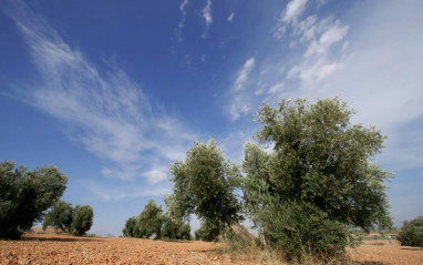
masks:
<instances>
[{"instance_id":1,"label":"small dark green bush cut off by the right edge","mask_svg":"<svg viewBox=\"0 0 423 265\"><path fill-rule=\"evenodd\" d=\"M396 239L403 246L423 247L423 215L412 221L404 221Z\"/></svg>"}]
</instances>

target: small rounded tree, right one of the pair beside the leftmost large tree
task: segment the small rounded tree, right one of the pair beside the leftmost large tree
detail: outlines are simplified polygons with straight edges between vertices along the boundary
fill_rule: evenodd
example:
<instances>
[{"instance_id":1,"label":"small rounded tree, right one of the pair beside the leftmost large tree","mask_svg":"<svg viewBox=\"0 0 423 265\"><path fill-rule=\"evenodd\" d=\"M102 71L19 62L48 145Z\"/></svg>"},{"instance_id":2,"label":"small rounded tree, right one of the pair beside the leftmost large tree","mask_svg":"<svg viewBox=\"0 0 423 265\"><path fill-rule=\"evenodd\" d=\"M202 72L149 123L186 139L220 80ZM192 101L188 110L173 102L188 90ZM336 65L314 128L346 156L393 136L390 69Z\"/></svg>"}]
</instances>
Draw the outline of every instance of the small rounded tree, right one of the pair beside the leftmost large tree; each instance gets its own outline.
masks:
<instances>
[{"instance_id":1,"label":"small rounded tree, right one of the pair beside the leftmost large tree","mask_svg":"<svg viewBox=\"0 0 423 265\"><path fill-rule=\"evenodd\" d=\"M90 205L76 205L71 224L71 233L84 235L93 225L94 212Z\"/></svg>"}]
</instances>

